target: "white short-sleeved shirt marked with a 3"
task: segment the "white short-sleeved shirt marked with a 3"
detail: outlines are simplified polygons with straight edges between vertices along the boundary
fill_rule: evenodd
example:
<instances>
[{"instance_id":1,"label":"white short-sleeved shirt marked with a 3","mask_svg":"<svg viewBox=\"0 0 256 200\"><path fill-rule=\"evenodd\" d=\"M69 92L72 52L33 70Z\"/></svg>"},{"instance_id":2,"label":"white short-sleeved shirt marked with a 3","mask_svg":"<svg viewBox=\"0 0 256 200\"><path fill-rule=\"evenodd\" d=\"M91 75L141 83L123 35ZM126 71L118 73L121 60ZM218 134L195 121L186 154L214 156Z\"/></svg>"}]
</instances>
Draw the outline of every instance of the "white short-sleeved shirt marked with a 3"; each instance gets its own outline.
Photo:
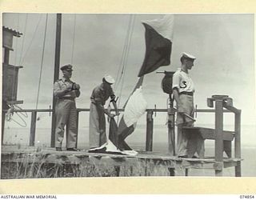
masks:
<instances>
[{"instance_id":1,"label":"white short-sleeved shirt marked with a 3","mask_svg":"<svg viewBox=\"0 0 256 200\"><path fill-rule=\"evenodd\" d=\"M173 76L173 89L178 88L178 93L181 92L194 92L194 82L190 75L178 68Z\"/></svg>"}]
</instances>

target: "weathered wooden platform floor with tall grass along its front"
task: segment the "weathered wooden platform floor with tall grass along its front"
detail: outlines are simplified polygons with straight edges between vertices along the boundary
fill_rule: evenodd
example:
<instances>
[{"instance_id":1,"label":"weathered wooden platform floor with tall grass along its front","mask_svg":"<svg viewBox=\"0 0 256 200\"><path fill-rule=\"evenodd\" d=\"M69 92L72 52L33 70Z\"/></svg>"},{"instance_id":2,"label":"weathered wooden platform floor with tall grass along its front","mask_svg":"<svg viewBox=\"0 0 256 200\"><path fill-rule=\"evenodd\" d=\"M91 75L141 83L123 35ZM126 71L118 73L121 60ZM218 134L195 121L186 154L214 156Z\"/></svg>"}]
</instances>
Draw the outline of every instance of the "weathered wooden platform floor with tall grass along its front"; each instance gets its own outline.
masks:
<instances>
[{"instance_id":1,"label":"weathered wooden platform floor with tall grass along its front","mask_svg":"<svg viewBox=\"0 0 256 200\"><path fill-rule=\"evenodd\" d=\"M175 175L188 169L222 170L242 159L178 158L170 154L141 151L136 156L94 154L84 151L55 151L53 148L2 146L2 178L60 178L97 176ZM181 174L179 174L181 175Z\"/></svg>"}]
</instances>

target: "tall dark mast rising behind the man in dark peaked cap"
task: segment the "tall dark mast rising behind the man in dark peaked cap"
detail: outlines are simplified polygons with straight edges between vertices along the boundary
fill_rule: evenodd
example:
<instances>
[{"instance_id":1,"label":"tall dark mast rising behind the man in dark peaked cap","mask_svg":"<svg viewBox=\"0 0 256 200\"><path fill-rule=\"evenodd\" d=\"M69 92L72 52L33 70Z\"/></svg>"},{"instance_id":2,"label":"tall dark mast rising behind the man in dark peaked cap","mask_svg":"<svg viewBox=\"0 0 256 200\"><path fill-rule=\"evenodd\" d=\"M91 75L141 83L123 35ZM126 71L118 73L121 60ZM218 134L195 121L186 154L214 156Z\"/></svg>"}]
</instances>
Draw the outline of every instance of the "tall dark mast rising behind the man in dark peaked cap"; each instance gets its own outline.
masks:
<instances>
[{"instance_id":1,"label":"tall dark mast rising behind the man in dark peaked cap","mask_svg":"<svg viewBox=\"0 0 256 200\"><path fill-rule=\"evenodd\" d=\"M61 35L62 35L62 14L57 14L56 18L56 41L55 41L55 61L54 61L54 82L58 80L59 66L60 66L60 51L61 51ZM50 147L55 146L55 127L56 127L56 114L55 114L56 98L53 96L53 114L51 120L51 139Z\"/></svg>"}]
</instances>

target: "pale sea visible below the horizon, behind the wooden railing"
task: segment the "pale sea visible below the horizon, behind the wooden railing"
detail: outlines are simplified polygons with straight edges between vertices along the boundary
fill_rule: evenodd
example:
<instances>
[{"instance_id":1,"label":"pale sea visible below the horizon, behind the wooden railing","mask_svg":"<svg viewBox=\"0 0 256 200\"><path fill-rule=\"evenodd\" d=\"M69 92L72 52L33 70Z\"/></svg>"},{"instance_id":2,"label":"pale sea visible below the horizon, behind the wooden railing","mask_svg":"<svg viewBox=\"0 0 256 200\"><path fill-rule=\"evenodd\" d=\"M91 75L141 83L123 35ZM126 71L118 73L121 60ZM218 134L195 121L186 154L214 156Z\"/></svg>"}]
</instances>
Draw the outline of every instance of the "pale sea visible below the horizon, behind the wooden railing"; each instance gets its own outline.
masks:
<instances>
[{"instance_id":1,"label":"pale sea visible below the horizon, behind the wooden railing","mask_svg":"<svg viewBox=\"0 0 256 200\"><path fill-rule=\"evenodd\" d=\"M242 177L256 177L256 146L254 139L245 138L253 134L255 137L254 126L243 126L242 128ZM21 146L28 146L30 139L29 128L6 128L4 134L4 144L15 144ZM131 134L126 142L134 150L145 150L146 148L146 129L145 126L138 126L134 134ZM154 126L153 150L156 152L166 153L167 147L167 134L165 126ZM249 142L247 142L249 141ZM50 129L37 128L35 143L40 142L42 146L50 146ZM64 140L63 145L66 146ZM79 128L78 131L78 148L88 149L89 135L88 127ZM232 150L234 156L234 146ZM214 141L206 141L206 156L214 156ZM214 170L190 170L190 176L214 176ZM234 177L234 167L226 168L223 170L223 175L226 177Z\"/></svg>"}]
</instances>

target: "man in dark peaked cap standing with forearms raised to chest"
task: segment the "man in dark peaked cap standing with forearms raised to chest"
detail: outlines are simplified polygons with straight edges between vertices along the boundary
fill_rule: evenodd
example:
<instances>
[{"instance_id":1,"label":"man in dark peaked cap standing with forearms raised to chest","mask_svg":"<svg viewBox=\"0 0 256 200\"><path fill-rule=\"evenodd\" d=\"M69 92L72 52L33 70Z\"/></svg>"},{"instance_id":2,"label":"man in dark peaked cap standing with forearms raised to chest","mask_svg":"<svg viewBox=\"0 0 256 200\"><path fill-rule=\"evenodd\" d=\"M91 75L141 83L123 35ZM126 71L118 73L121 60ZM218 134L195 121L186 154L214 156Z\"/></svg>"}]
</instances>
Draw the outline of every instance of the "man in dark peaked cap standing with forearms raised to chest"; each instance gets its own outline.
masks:
<instances>
[{"instance_id":1,"label":"man in dark peaked cap standing with forearms raised to chest","mask_svg":"<svg viewBox=\"0 0 256 200\"><path fill-rule=\"evenodd\" d=\"M55 147L62 151L64 127L66 126L66 150L75 150L77 144L77 110L75 98L80 96L80 86L70 80L72 76L71 65L61 67L63 77L54 82L54 97L57 98Z\"/></svg>"}]
</instances>

